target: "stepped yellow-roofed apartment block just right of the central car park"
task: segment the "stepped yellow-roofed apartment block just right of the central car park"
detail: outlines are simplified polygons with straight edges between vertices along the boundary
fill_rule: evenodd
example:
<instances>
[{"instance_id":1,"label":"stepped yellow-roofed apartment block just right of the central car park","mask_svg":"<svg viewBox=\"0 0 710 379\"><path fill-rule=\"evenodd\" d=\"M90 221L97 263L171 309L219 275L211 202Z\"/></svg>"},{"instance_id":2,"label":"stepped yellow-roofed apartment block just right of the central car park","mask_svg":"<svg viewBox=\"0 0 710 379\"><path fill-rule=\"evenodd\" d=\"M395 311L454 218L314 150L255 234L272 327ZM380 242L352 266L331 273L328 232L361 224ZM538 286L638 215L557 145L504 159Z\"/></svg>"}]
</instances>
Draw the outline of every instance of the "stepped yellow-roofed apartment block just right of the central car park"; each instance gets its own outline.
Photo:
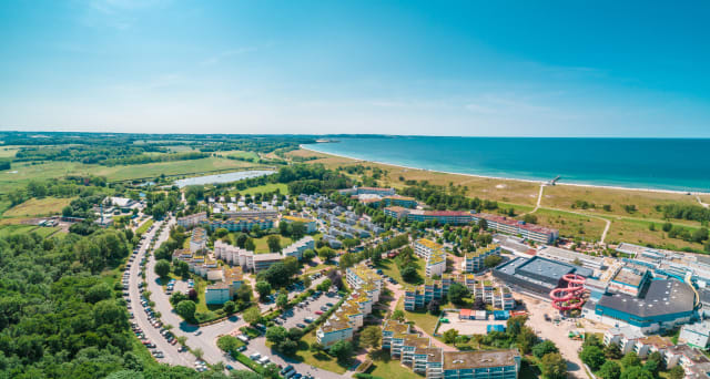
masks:
<instances>
[{"instance_id":1,"label":"stepped yellow-roofed apartment block just right of the central car park","mask_svg":"<svg viewBox=\"0 0 710 379\"><path fill-rule=\"evenodd\" d=\"M375 270L361 263L347 268L345 278L353 291L316 331L316 340L325 347L353 339L353 332L364 325L365 316L379 300L382 277Z\"/></svg>"}]
</instances>

